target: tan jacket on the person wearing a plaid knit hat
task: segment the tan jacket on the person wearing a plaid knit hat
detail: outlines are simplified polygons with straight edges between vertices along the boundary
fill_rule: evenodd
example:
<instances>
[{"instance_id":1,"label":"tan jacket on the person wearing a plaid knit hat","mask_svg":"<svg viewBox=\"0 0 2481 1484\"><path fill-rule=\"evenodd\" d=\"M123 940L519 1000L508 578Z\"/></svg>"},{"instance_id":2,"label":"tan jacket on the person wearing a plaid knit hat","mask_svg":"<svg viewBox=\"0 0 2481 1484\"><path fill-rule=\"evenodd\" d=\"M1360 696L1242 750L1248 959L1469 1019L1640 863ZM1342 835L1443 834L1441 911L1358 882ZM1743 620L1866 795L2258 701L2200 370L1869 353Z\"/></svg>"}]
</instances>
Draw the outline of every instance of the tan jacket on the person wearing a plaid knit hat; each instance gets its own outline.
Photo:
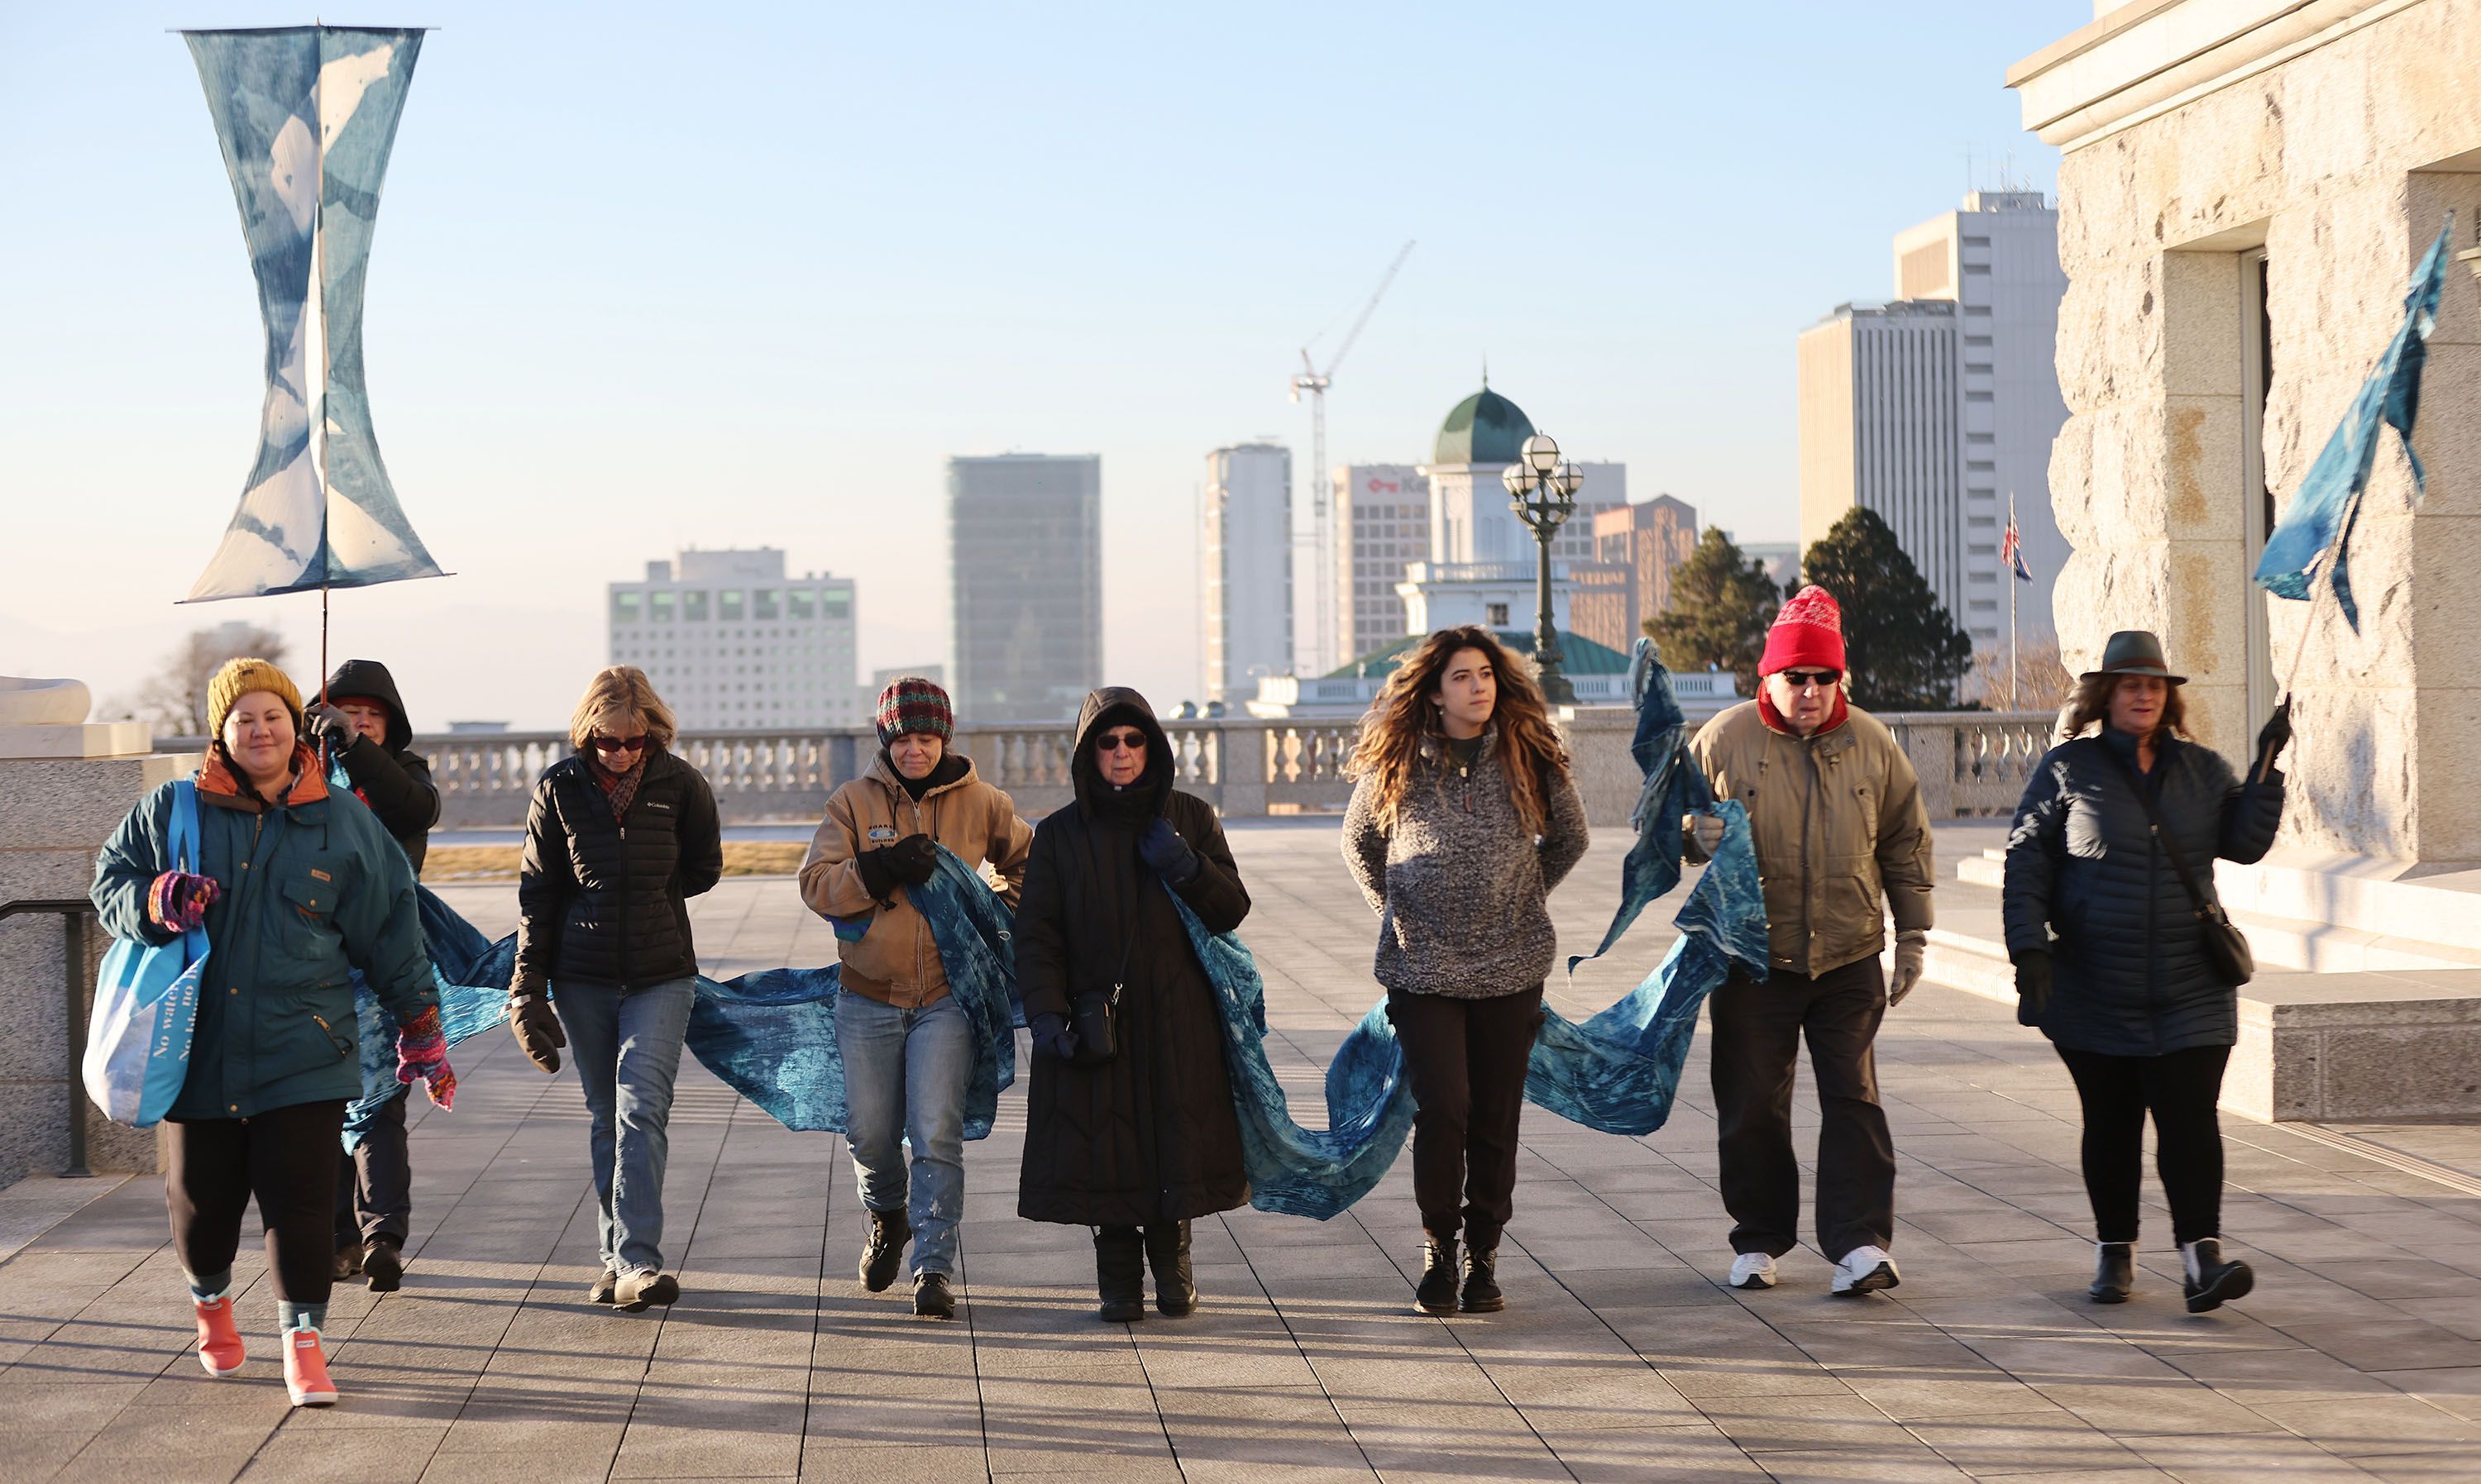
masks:
<instances>
[{"instance_id":1,"label":"tan jacket on the person wearing a plaid knit hat","mask_svg":"<svg viewBox=\"0 0 2481 1484\"><path fill-rule=\"evenodd\" d=\"M861 851L928 834L968 866L987 861L997 869L1007 906L1017 906L1017 888L1025 883L1035 826L1017 819L1015 799L985 784L970 759L958 762L965 762L965 777L933 787L915 804L881 752L866 774L826 799L826 819L801 861L801 901L839 923L844 988L883 1005L930 1005L948 993L948 973L930 941L930 923L906 901L906 886L886 901L871 898L861 866L853 864ZM849 938L856 926L866 931Z\"/></svg>"}]
</instances>

